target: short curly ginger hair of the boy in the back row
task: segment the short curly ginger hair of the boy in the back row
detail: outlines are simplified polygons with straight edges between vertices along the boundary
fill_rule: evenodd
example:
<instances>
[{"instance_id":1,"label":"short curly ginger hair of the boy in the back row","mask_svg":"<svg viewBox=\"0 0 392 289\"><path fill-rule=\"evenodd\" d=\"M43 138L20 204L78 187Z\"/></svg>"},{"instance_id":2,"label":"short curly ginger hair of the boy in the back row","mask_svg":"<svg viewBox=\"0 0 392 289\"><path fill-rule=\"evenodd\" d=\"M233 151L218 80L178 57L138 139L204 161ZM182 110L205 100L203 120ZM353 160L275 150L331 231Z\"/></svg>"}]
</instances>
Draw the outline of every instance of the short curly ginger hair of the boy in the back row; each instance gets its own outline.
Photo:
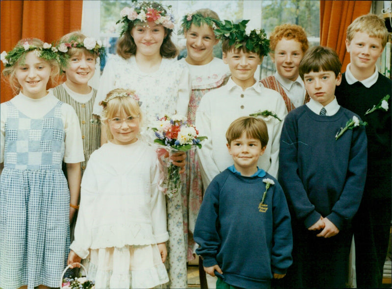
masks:
<instances>
[{"instance_id":1,"label":"short curly ginger hair of the boy in the back row","mask_svg":"<svg viewBox=\"0 0 392 289\"><path fill-rule=\"evenodd\" d=\"M282 24L276 26L270 35L270 49L274 53L276 45L282 38L288 40L294 39L301 44L302 52L305 53L309 48L308 38L306 37L305 30L296 24Z\"/></svg>"}]
</instances>

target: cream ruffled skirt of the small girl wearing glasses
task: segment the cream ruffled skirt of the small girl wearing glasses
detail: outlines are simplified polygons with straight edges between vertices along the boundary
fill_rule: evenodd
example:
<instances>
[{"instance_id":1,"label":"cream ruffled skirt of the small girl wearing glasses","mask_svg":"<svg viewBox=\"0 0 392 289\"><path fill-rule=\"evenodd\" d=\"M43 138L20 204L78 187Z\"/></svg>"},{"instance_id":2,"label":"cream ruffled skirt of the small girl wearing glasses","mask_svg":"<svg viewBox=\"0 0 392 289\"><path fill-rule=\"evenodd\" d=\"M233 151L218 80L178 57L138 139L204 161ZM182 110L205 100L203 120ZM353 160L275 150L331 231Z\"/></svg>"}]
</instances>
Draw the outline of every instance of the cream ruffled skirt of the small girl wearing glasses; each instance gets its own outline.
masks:
<instances>
[{"instance_id":1,"label":"cream ruffled skirt of the small girl wearing glasses","mask_svg":"<svg viewBox=\"0 0 392 289\"><path fill-rule=\"evenodd\" d=\"M169 282L156 244L91 249L82 263L95 288L153 288Z\"/></svg>"}]
</instances>

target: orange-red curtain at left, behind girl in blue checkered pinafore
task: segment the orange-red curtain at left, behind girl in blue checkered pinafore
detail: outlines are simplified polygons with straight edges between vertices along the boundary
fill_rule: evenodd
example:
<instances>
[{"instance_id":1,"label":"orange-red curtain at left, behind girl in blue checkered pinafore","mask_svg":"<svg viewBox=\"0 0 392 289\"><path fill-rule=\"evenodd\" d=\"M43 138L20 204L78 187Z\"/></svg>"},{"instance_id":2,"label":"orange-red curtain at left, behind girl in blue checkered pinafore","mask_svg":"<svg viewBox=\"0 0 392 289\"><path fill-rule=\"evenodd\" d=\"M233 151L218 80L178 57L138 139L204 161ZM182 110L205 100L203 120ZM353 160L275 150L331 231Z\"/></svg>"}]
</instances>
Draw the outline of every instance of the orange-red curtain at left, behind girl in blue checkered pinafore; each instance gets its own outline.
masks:
<instances>
[{"instance_id":1,"label":"orange-red curtain at left, behind girl in blue checkered pinafore","mask_svg":"<svg viewBox=\"0 0 392 289\"><path fill-rule=\"evenodd\" d=\"M0 5L0 51L11 50L23 38L51 43L81 28L82 0L1 0ZM0 102L12 97L11 88L1 79Z\"/></svg>"}]
</instances>

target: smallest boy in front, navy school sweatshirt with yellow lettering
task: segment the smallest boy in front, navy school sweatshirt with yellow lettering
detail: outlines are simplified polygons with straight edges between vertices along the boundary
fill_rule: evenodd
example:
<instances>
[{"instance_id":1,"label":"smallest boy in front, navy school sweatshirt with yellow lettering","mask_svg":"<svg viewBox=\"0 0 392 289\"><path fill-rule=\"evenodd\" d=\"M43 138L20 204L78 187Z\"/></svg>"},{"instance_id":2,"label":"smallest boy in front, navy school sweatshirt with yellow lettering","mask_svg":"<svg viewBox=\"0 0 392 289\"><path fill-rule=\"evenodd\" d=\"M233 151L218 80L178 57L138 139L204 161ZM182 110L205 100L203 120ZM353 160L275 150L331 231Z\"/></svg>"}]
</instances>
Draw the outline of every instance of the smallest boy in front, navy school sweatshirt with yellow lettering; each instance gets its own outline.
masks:
<instances>
[{"instance_id":1,"label":"smallest boy in front, navy school sweatshirt with yellow lettering","mask_svg":"<svg viewBox=\"0 0 392 289\"><path fill-rule=\"evenodd\" d=\"M196 220L196 253L217 288L270 288L292 264L290 213L277 180L257 167L268 144L264 120L242 117L227 132L234 165L208 186Z\"/></svg>"}]
</instances>

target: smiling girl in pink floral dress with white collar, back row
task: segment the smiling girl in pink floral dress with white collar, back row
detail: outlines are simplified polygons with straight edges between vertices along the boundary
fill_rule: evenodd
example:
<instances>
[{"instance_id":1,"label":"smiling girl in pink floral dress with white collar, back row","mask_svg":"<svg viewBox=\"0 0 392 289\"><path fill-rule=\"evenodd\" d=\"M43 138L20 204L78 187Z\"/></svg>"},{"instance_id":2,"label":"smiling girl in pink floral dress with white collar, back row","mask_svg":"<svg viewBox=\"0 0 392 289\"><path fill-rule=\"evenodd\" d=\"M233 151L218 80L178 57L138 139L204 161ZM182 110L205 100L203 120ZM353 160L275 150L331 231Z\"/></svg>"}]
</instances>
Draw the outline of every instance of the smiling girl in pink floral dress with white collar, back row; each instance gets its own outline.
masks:
<instances>
[{"instance_id":1,"label":"smiling girl in pink floral dress with white collar, back row","mask_svg":"<svg viewBox=\"0 0 392 289\"><path fill-rule=\"evenodd\" d=\"M230 70L219 58L214 57L213 48L219 40L214 29L219 27L219 16L210 9L199 9L182 19L183 33L186 38L187 57L179 62L188 66L192 78L192 93L188 105L187 120L195 124L196 110L200 99L210 90L225 85ZM182 197L188 206L184 219L188 220L188 261L195 259L196 243L193 232L198 211L203 198L203 183L195 150L188 153L188 166L183 177ZM204 272L204 270L202 270ZM203 273L202 272L202 273Z\"/></svg>"}]
</instances>

